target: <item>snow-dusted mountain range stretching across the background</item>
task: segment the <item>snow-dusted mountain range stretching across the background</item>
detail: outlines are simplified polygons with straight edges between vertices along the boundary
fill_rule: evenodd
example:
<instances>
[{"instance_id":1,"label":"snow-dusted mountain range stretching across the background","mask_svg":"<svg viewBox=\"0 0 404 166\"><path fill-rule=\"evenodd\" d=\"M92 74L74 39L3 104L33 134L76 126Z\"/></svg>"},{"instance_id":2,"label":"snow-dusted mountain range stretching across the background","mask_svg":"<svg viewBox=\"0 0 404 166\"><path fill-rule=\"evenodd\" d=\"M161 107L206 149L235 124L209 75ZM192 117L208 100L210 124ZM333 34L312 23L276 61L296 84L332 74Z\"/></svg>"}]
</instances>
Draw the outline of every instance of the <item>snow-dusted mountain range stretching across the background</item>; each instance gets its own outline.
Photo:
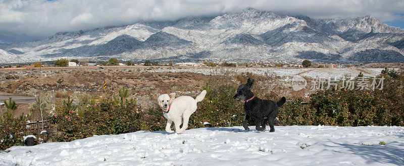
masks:
<instances>
[{"instance_id":1,"label":"snow-dusted mountain range stretching across the background","mask_svg":"<svg viewBox=\"0 0 404 166\"><path fill-rule=\"evenodd\" d=\"M0 63L61 58L132 61L404 62L404 30L372 16L313 19L246 9L217 17L137 22L0 44Z\"/></svg>"}]
</instances>

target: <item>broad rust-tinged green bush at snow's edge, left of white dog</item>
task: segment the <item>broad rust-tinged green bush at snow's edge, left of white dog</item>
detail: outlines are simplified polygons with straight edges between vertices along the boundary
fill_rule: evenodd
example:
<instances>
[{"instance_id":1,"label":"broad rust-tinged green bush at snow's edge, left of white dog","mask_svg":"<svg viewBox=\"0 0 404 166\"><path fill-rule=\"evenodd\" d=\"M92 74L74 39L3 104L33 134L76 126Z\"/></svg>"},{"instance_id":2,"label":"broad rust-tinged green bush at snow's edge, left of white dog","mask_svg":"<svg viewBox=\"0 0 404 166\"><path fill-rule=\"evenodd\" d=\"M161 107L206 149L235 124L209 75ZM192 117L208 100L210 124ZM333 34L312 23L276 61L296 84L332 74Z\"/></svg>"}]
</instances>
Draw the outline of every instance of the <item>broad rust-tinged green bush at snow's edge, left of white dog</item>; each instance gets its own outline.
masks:
<instances>
[{"instance_id":1,"label":"broad rust-tinged green bush at snow's edge, left of white dog","mask_svg":"<svg viewBox=\"0 0 404 166\"><path fill-rule=\"evenodd\" d=\"M56 112L65 112L64 106L56 106ZM111 99L89 105L80 114L76 110L69 110L62 115L53 115L52 122L57 127L54 141L72 141L92 135L122 134L129 132L129 127L140 129L140 107L135 102L114 105Z\"/></svg>"}]
</instances>

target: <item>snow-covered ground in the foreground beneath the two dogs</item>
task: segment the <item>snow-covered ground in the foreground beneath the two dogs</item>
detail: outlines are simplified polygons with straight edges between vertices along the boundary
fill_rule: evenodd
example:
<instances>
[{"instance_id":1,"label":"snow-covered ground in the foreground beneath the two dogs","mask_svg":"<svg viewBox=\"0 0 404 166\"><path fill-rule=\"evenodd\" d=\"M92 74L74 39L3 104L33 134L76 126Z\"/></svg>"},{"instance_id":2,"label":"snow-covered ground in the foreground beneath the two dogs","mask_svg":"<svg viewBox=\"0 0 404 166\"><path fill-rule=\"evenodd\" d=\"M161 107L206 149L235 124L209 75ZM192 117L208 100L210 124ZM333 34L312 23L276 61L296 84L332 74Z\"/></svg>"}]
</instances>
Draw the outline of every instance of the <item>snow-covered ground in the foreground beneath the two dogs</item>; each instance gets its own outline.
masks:
<instances>
[{"instance_id":1,"label":"snow-covered ground in the foreground beneath the two dogs","mask_svg":"<svg viewBox=\"0 0 404 166\"><path fill-rule=\"evenodd\" d=\"M0 153L0 165L404 165L404 127L275 130L200 128L180 135L138 131L14 146Z\"/></svg>"}]
</instances>

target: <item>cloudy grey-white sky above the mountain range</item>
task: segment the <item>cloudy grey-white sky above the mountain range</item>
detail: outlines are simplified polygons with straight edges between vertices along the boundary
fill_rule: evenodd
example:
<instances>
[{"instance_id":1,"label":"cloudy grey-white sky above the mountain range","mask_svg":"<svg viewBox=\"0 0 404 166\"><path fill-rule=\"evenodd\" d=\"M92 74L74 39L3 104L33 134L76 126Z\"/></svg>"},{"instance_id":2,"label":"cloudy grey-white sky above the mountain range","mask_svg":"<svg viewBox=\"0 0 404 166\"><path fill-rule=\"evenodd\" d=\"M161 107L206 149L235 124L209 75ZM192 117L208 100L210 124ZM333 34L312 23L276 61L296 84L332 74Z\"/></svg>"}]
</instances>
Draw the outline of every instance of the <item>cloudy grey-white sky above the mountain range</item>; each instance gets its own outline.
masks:
<instances>
[{"instance_id":1,"label":"cloudy grey-white sky above the mountain range","mask_svg":"<svg viewBox=\"0 0 404 166\"><path fill-rule=\"evenodd\" d=\"M34 40L57 32L129 25L140 20L216 16L249 7L313 18L373 15L404 29L404 0L0 0L0 42Z\"/></svg>"}]
</instances>

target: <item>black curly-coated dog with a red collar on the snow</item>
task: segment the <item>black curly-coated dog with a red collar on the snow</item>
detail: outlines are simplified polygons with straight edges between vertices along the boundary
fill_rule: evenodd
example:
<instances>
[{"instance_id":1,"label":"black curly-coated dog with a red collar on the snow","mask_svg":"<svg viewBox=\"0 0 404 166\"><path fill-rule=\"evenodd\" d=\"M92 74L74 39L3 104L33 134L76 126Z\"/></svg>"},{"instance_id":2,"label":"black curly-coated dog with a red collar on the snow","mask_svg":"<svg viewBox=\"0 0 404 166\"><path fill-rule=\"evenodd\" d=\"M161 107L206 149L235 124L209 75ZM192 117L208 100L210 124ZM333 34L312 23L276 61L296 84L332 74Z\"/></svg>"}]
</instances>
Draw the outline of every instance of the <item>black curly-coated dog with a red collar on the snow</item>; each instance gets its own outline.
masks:
<instances>
[{"instance_id":1,"label":"black curly-coated dog with a red collar on the snow","mask_svg":"<svg viewBox=\"0 0 404 166\"><path fill-rule=\"evenodd\" d=\"M245 111L245 119L243 122L243 127L245 130L249 130L248 128L248 120L252 118L256 122L257 131L265 131L265 125L269 123L269 127L271 128L269 132L274 132L274 121L275 118L279 114L279 107L281 107L285 102L286 98L282 97L278 102L272 100L263 100L255 96L254 93L251 92L252 86L254 85L254 79L248 78L246 84L241 84L237 93L234 95L234 99L237 101L244 100L244 111ZM248 99L252 98L249 101Z\"/></svg>"}]
</instances>

